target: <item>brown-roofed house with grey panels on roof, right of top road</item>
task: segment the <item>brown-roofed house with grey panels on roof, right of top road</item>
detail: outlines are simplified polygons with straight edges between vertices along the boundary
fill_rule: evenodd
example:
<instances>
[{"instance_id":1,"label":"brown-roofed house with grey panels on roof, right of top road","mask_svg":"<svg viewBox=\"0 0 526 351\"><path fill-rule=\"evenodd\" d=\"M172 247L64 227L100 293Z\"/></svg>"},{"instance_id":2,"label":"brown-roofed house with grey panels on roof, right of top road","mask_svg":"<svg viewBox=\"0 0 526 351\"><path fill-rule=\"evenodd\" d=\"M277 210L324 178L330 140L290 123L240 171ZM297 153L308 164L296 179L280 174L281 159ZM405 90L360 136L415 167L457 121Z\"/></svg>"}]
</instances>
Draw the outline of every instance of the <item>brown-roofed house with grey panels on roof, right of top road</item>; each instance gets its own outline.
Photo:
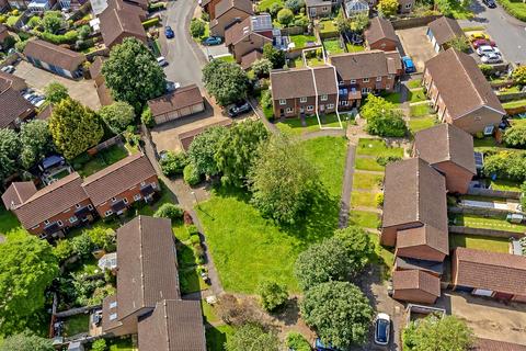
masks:
<instances>
[{"instance_id":1,"label":"brown-roofed house with grey panels on roof, right of top road","mask_svg":"<svg viewBox=\"0 0 526 351\"><path fill-rule=\"evenodd\" d=\"M249 67L258 57L254 52L260 52L261 55L263 46L272 44L272 18L267 13L249 16L225 31L228 50L238 64L244 60L244 66Z\"/></svg>"}]
</instances>

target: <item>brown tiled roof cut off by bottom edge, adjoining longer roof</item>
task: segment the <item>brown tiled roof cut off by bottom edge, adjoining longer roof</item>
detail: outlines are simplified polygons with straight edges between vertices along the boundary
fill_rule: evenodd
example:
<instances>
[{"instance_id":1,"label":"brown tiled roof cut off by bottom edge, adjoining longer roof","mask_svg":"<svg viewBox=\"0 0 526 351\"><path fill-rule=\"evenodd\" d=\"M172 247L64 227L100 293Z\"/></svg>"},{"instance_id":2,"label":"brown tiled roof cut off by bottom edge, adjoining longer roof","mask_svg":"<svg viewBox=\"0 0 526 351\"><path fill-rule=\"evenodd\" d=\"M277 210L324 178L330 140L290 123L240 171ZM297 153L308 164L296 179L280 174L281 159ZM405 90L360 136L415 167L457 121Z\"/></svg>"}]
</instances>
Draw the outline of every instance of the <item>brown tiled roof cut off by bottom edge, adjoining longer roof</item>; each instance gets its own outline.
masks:
<instances>
[{"instance_id":1,"label":"brown tiled roof cut off by bottom edge, adjoining longer roof","mask_svg":"<svg viewBox=\"0 0 526 351\"><path fill-rule=\"evenodd\" d=\"M164 299L139 321L140 351L205 351L205 329L198 301Z\"/></svg>"}]
</instances>

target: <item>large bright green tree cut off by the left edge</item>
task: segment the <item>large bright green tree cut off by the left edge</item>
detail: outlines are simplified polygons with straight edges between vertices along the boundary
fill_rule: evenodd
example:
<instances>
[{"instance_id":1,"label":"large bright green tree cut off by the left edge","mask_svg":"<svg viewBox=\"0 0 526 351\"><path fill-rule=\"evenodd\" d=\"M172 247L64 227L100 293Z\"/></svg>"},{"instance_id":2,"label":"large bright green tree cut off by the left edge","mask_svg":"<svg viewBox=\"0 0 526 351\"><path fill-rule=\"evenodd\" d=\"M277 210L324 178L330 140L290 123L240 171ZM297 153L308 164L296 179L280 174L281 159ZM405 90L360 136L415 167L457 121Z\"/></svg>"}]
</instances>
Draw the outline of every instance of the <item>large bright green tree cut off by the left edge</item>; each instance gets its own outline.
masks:
<instances>
[{"instance_id":1,"label":"large bright green tree cut off by the left edge","mask_svg":"<svg viewBox=\"0 0 526 351\"><path fill-rule=\"evenodd\" d=\"M58 274L52 246L31 235L10 236L0 245L0 330L24 330L45 303L45 291Z\"/></svg>"}]
</instances>

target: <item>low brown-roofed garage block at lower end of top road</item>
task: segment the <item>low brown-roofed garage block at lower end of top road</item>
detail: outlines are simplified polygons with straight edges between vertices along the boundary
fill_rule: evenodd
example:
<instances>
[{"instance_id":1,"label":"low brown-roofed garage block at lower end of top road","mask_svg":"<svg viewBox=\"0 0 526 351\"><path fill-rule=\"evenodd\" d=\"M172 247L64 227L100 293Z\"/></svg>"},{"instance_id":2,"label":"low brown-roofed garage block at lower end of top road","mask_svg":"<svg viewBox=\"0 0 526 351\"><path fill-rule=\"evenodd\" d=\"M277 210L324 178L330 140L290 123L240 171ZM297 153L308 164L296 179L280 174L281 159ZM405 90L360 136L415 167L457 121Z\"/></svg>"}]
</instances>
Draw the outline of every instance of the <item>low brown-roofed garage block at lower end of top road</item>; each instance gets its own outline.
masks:
<instances>
[{"instance_id":1,"label":"low brown-roofed garage block at lower end of top road","mask_svg":"<svg viewBox=\"0 0 526 351\"><path fill-rule=\"evenodd\" d=\"M205 102L201 95L199 88L196 84L191 84L149 100L148 107L150 107L156 123L161 124L203 112Z\"/></svg>"}]
</instances>

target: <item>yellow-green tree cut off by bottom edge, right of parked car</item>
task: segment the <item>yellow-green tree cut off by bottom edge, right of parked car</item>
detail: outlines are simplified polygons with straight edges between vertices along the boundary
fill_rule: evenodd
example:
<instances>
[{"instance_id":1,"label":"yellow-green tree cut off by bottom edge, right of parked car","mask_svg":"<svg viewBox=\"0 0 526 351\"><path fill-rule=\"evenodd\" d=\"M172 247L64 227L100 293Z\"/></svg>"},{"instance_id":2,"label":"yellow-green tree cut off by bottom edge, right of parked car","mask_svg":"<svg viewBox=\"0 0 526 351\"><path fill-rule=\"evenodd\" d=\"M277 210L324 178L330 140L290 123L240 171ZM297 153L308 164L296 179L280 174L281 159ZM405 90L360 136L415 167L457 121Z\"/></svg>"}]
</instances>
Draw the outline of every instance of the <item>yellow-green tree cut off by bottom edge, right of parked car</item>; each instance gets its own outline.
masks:
<instances>
[{"instance_id":1,"label":"yellow-green tree cut off by bottom edge, right of parked car","mask_svg":"<svg viewBox=\"0 0 526 351\"><path fill-rule=\"evenodd\" d=\"M412 321L403 331L403 349L409 351L467 351L474 342L473 331L455 316L431 315Z\"/></svg>"}]
</instances>

